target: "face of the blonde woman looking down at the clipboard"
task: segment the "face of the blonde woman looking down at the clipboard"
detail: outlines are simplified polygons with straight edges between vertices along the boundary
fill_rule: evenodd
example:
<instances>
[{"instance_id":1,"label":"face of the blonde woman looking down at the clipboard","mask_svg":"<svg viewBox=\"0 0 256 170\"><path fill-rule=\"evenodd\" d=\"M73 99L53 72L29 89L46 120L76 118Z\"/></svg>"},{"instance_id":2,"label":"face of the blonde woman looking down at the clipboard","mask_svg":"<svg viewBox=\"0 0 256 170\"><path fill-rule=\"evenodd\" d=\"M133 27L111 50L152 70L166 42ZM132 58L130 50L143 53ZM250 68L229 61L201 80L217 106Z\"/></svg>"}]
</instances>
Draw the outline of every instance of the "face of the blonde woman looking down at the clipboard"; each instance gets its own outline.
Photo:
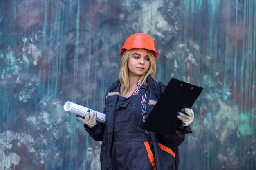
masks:
<instances>
[{"instance_id":1,"label":"face of the blonde woman looking down at the clipboard","mask_svg":"<svg viewBox=\"0 0 256 170\"><path fill-rule=\"evenodd\" d=\"M149 69L148 52L144 48L137 48L128 59L129 76L141 76Z\"/></svg>"}]
</instances>

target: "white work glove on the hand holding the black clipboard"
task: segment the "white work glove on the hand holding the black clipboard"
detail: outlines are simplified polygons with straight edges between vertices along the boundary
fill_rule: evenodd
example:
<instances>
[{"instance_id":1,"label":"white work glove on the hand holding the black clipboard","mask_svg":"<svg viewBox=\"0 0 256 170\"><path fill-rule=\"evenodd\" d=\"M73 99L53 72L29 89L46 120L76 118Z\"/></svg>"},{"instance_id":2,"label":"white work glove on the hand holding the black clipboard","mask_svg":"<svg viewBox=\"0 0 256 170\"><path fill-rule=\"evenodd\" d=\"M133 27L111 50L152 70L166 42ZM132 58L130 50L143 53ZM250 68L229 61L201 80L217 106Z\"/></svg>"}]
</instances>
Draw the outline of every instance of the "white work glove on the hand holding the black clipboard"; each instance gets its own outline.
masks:
<instances>
[{"instance_id":1,"label":"white work glove on the hand holding the black clipboard","mask_svg":"<svg viewBox=\"0 0 256 170\"><path fill-rule=\"evenodd\" d=\"M177 113L178 114L177 118L179 118L182 121L183 126L189 126L189 124L191 124L194 120L193 110L189 109L189 108L183 108L180 111L178 111L178 113Z\"/></svg>"}]
</instances>

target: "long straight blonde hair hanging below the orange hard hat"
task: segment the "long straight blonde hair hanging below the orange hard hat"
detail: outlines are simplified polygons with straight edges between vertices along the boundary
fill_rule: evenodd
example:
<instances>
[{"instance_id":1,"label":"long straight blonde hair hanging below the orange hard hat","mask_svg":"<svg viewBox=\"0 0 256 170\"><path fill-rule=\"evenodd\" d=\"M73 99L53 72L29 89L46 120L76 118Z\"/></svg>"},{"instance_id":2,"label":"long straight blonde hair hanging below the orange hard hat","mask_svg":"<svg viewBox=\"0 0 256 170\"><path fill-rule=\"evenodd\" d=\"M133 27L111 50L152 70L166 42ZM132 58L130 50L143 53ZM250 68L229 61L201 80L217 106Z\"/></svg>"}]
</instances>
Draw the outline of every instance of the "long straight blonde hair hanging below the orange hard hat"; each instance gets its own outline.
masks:
<instances>
[{"instance_id":1,"label":"long straight blonde hair hanging below the orange hard hat","mask_svg":"<svg viewBox=\"0 0 256 170\"><path fill-rule=\"evenodd\" d=\"M123 54L123 57L121 58L121 69L119 73L119 80L120 80L120 95L124 96L126 92L128 91L129 88L129 71L128 71L128 59L132 56L132 53L137 50L137 48L133 48L131 50L126 50ZM148 52L148 57L150 61L150 66L148 68L148 72L142 74L140 76L140 83L141 85L147 85L147 78L151 74L151 77L155 79L156 81L157 78L155 77L156 74L156 63L155 63L155 57L153 55L153 52L150 50L145 49Z\"/></svg>"}]
</instances>

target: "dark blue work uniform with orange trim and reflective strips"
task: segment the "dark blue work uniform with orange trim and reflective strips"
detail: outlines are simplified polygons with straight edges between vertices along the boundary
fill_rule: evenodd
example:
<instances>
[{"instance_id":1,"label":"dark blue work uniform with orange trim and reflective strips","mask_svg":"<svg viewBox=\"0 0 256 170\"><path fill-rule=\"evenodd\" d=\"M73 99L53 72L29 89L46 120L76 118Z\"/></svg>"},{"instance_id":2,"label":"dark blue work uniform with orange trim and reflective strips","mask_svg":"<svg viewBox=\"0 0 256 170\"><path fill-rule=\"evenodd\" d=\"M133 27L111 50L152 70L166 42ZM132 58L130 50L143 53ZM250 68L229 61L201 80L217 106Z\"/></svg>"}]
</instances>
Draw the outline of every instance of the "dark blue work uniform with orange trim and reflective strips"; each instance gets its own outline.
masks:
<instances>
[{"instance_id":1,"label":"dark blue work uniform with orange trim and reflective strips","mask_svg":"<svg viewBox=\"0 0 256 170\"><path fill-rule=\"evenodd\" d=\"M102 170L177 170L179 164L178 145L184 141L186 133L192 133L190 127L182 126L172 136L154 132L146 133L141 129L141 99L147 94L147 113L164 91L165 85L147 79L148 85L142 86L139 94L128 98L119 96L120 81L117 80L106 93L106 124L97 122L91 129L85 130L95 140L102 140Z\"/></svg>"}]
</instances>

